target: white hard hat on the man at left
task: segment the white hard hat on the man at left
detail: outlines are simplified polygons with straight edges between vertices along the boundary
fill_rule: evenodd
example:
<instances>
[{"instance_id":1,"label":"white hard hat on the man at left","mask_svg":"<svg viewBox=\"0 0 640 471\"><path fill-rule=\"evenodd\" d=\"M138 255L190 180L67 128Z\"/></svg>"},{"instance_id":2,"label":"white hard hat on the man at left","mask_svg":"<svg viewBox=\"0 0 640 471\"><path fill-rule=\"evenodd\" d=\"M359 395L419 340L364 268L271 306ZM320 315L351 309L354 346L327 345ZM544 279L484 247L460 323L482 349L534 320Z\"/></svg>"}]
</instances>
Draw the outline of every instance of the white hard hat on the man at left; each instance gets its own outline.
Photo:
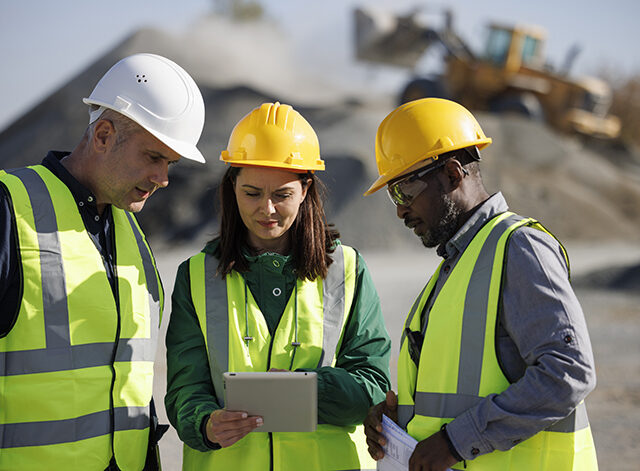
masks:
<instances>
[{"instance_id":1,"label":"white hard hat on the man at left","mask_svg":"<svg viewBox=\"0 0 640 471\"><path fill-rule=\"evenodd\" d=\"M191 76L165 57L125 57L104 74L89 98L82 101L135 121L182 157L205 161L196 148L204 127L202 94ZM94 116L92 121L98 117Z\"/></svg>"}]
</instances>

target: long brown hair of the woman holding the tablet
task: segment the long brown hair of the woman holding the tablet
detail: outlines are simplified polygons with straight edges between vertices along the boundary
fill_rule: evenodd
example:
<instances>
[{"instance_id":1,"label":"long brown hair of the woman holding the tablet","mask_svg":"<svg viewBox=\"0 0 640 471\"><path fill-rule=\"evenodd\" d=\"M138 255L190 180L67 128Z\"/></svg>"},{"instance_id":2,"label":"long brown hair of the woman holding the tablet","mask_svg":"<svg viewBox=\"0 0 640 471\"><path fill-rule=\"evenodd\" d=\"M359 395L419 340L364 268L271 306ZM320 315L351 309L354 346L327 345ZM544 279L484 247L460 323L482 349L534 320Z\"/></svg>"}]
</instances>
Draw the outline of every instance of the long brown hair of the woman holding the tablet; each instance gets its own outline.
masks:
<instances>
[{"instance_id":1,"label":"long brown hair of the woman holding the tablet","mask_svg":"<svg viewBox=\"0 0 640 471\"><path fill-rule=\"evenodd\" d=\"M220 183L220 234L216 256L220 260L218 273L222 277L231 270L249 270L249 263L243 255L243 248L247 248L247 227L240 217L233 188L241 170L241 167L229 167ZM330 253L340 233L327 224L322 204L325 193L322 182L311 172L301 173L300 181L303 186L308 185L308 189L298 216L289 229L293 263L301 280L326 278L333 262Z\"/></svg>"}]
</instances>

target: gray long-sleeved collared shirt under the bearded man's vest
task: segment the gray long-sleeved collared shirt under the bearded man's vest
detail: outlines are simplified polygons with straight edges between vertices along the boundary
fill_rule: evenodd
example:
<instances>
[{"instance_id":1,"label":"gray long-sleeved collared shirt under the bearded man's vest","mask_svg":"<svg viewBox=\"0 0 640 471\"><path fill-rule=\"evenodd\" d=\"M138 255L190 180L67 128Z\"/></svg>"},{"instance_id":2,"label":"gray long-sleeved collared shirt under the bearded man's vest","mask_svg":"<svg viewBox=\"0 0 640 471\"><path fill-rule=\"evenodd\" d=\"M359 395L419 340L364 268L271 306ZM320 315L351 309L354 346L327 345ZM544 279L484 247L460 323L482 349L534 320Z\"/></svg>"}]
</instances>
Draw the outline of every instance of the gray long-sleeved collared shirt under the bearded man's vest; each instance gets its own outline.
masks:
<instances>
[{"instance_id":1,"label":"gray long-sleeved collared shirt under the bearded man's vest","mask_svg":"<svg viewBox=\"0 0 640 471\"><path fill-rule=\"evenodd\" d=\"M473 237L489 219L507 210L504 197L496 193L438 248L445 262L425 306L424 322ZM538 229L518 229L509 242L504 276L496 348L512 384L447 426L451 442L467 460L508 450L544 430L569 415L595 387L584 314L558 241Z\"/></svg>"}]
</instances>

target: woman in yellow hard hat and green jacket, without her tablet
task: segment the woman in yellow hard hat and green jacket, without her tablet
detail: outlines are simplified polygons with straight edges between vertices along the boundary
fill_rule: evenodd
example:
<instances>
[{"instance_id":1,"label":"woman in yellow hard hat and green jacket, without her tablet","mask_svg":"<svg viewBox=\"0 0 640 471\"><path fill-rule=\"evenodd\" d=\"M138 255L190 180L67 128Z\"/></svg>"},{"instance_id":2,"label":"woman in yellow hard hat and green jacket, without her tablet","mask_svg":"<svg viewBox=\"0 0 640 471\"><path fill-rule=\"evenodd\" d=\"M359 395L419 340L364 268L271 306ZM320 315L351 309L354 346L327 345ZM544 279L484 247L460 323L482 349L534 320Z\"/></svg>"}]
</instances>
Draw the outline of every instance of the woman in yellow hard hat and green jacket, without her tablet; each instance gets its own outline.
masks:
<instances>
[{"instance_id":1,"label":"woman in yellow hard hat and green jacket, without her tablet","mask_svg":"<svg viewBox=\"0 0 640 471\"><path fill-rule=\"evenodd\" d=\"M178 269L167 333L183 469L373 469L361 424L390 388L390 340L362 257L326 223L316 134L265 103L220 158L220 235ZM315 432L250 433L261 417L224 408L224 372L274 369L316 373Z\"/></svg>"}]
</instances>

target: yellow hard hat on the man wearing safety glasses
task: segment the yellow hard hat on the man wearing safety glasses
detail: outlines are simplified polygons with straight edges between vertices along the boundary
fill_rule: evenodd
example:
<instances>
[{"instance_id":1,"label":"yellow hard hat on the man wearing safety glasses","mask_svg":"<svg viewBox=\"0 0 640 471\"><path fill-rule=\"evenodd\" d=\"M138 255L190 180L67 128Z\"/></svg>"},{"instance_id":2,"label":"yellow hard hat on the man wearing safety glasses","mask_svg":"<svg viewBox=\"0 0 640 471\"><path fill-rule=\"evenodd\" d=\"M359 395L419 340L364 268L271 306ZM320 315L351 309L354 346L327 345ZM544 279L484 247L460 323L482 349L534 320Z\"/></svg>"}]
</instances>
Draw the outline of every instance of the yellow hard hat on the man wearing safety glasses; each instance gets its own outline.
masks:
<instances>
[{"instance_id":1,"label":"yellow hard hat on the man wearing safety glasses","mask_svg":"<svg viewBox=\"0 0 640 471\"><path fill-rule=\"evenodd\" d=\"M376 134L380 177L364 194L375 193L391 180L464 147L491 144L473 115L462 105L441 98L410 101L393 110ZM416 164L422 164L416 166Z\"/></svg>"}]
</instances>

